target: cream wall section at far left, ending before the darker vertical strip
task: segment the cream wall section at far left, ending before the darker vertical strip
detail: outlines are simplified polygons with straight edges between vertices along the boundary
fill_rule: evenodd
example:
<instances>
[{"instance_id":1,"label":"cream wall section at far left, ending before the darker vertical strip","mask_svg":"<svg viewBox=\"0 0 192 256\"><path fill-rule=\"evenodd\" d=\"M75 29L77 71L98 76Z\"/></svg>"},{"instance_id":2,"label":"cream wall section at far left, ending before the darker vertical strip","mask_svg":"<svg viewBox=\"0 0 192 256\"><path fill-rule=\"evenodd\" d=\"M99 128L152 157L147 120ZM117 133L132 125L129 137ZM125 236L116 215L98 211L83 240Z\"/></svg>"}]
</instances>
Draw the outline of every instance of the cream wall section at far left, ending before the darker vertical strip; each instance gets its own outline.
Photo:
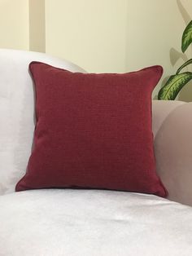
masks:
<instances>
[{"instance_id":1,"label":"cream wall section at far left, ending before the darker vertical strip","mask_svg":"<svg viewBox=\"0 0 192 256\"><path fill-rule=\"evenodd\" d=\"M28 1L0 0L0 47L28 50Z\"/></svg>"}]
</instances>

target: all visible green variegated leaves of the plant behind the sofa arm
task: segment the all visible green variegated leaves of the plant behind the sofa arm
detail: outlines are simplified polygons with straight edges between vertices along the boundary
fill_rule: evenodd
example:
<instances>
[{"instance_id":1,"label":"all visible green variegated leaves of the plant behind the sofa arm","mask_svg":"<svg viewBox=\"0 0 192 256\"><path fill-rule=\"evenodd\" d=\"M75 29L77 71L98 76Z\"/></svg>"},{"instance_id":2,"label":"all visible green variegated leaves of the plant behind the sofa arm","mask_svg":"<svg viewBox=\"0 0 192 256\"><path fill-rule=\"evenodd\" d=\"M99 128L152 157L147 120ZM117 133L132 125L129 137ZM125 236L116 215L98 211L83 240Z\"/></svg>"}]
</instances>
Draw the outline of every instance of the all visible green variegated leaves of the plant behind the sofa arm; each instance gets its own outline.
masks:
<instances>
[{"instance_id":1,"label":"all visible green variegated leaves of the plant behind the sofa arm","mask_svg":"<svg viewBox=\"0 0 192 256\"><path fill-rule=\"evenodd\" d=\"M181 51L184 53L188 46L192 43L192 20L186 26L181 40ZM168 81L165 85L159 90L158 99L167 99L173 100L176 99L178 93L185 84L190 82L192 79L192 72L181 72L183 68L192 64L192 59L187 60L180 68L177 69L177 72L168 78Z\"/></svg>"}]
</instances>

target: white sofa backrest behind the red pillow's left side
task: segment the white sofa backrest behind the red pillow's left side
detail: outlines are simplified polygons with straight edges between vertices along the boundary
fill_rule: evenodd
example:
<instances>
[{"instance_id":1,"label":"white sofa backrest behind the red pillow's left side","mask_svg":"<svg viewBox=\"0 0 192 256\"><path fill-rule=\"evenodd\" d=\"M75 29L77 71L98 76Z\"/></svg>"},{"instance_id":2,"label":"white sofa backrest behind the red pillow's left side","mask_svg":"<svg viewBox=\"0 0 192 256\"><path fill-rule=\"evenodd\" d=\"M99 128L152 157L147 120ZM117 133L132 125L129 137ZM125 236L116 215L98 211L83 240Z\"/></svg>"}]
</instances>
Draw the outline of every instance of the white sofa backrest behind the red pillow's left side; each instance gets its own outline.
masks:
<instances>
[{"instance_id":1,"label":"white sofa backrest behind the red pillow's left side","mask_svg":"<svg viewBox=\"0 0 192 256\"><path fill-rule=\"evenodd\" d=\"M34 99L28 64L33 60L85 72L43 53L0 49L0 195L15 191L31 153Z\"/></svg>"}]
</instances>

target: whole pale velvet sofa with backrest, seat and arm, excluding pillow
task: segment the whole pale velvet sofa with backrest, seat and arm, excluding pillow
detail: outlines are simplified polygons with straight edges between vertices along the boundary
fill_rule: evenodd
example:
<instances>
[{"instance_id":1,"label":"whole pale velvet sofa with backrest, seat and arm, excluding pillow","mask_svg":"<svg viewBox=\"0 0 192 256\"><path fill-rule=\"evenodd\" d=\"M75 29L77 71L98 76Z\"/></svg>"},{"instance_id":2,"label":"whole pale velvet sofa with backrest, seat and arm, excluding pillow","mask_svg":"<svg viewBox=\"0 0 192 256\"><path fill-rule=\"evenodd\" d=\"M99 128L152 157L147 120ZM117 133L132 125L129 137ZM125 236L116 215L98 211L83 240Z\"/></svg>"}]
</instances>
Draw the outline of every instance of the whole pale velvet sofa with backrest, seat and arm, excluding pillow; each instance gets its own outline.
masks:
<instances>
[{"instance_id":1,"label":"whole pale velvet sofa with backrest, seat and arm, excluding pillow","mask_svg":"<svg viewBox=\"0 0 192 256\"><path fill-rule=\"evenodd\" d=\"M84 72L49 55L0 50L0 256L192 255L192 103L153 101L157 172L168 199L102 190L15 192L33 143L32 60Z\"/></svg>"}]
</instances>

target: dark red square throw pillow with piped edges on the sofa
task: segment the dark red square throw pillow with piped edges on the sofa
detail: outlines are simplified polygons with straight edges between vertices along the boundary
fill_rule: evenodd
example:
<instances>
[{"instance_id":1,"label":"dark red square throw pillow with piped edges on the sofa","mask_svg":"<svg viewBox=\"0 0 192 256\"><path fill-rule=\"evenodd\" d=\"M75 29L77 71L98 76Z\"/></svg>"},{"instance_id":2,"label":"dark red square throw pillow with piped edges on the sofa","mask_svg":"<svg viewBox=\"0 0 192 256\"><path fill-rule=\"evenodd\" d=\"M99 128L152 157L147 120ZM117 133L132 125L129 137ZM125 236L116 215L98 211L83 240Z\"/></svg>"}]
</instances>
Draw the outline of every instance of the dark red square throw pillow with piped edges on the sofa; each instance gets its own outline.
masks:
<instances>
[{"instance_id":1,"label":"dark red square throw pillow with piped edges on the sofa","mask_svg":"<svg viewBox=\"0 0 192 256\"><path fill-rule=\"evenodd\" d=\"M34 147L16 191L101 188L167 196L155 173L151 92L163 73L72 73L29 65L36 88Z\"/></svg>"}]
</instances>

